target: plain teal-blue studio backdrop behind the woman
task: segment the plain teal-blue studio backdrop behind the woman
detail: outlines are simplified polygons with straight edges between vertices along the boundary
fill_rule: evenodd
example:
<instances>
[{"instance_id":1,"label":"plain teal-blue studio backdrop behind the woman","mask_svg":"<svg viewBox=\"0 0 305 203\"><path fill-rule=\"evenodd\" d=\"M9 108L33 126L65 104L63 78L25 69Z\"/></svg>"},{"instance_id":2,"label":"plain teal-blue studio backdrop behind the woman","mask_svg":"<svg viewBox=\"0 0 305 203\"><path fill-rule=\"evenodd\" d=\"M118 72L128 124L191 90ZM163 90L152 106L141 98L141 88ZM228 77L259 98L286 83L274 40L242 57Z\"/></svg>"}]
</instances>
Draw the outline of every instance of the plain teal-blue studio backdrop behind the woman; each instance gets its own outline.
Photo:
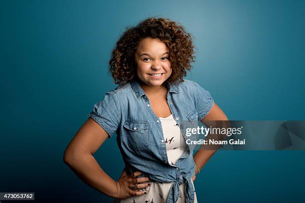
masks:
<instances>
[{"instance_id":1,"label":"plain teal-blue studio backdrop behind the woman","mask_svg":"<svg viewBox=\"0 0 305 203\"><path fill-rule=\"evenodd\" d=\"M77 178L63 152L93 104L116 87L108 61L120 34L150 16L178 21L193 35L197 58L187 79L229 119L305 119L304 0L1 0L0 192L111 202ZM198 201L302 202L304 157L218 151L197 176ZM119 178L116 139L95 158Z\"/></svg>"}]
</instances>

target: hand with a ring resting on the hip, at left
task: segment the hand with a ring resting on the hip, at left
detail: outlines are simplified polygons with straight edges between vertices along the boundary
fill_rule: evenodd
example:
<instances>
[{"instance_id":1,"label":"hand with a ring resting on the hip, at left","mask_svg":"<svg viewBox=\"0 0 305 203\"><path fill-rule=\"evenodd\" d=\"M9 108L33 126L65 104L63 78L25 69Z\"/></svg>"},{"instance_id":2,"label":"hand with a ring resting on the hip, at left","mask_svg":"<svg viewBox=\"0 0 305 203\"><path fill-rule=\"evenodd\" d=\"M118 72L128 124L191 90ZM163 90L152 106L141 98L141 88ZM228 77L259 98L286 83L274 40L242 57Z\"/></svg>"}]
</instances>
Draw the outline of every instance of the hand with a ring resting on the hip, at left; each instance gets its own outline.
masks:
<instances>
[{"instance_id":1,"label":"hand with a ring resting on the hip, at left","mask_svg":"<svg viewBox=\"0 0 305 203\"><path fill-rule=\"evenodd\" d=\"M117 184L117 199L126 199L132 196L140 196L146 194L146 190L137 191L138 189L144 189L150 187L150 183L143 183L150 181L148 177L137 178L137 176L142 175L143 172L136 171L131 175L127 175L126 170L123 170L123 173L119 180L116 182ZM136 186L136 190L132 189L132 186Z\"/></svg>"}]
</instances>

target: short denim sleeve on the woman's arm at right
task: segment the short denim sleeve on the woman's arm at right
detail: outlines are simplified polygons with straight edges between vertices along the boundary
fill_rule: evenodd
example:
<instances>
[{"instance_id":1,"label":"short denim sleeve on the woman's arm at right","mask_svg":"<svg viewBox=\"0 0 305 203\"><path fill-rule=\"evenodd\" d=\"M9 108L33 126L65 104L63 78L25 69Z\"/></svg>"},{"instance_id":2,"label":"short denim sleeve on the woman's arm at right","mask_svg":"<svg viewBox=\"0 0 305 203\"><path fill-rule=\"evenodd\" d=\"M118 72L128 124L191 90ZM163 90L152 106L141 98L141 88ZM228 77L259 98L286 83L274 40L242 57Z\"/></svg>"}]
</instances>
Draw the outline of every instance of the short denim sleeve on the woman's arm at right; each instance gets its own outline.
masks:
<instances>
[{"instance_id":1,"label":"short denim sleeve on the woman's arm at right","mask_svg":"<svg viewBox=\"0 0 305 203\"><path fill-rule=\"evenodd\" d=\"M198 120L201 120L212 109L214 105L214 100L208 91L200 87L198 83L194 81L193 83L195 85L195 98L196 98L196 106L198 112Z\"/></svg>"}]
</instances>

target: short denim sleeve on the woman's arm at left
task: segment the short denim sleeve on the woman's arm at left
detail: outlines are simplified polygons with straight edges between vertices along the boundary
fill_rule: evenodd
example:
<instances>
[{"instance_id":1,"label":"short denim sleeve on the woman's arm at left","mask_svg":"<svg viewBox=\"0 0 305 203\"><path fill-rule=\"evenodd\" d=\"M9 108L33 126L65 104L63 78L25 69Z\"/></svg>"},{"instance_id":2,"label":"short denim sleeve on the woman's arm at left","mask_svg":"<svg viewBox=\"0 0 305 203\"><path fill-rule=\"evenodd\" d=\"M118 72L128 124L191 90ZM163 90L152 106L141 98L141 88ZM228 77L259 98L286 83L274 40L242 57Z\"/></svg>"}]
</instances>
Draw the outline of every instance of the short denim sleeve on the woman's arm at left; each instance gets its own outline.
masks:
<instances>
[{"instance_id":1,"label":"short denim sleeve on the woman's arm at left","mask_svg":"<svg viewBox=\"0 0 305 203\"><path fill-rule=\"evenodd\" d=\"M93 110L88 114L108 133L108 138L117 131L121 122L121 107L118 96L113 92L108 92L104 100L97 102Z\"/></svg>"}]
</instances>

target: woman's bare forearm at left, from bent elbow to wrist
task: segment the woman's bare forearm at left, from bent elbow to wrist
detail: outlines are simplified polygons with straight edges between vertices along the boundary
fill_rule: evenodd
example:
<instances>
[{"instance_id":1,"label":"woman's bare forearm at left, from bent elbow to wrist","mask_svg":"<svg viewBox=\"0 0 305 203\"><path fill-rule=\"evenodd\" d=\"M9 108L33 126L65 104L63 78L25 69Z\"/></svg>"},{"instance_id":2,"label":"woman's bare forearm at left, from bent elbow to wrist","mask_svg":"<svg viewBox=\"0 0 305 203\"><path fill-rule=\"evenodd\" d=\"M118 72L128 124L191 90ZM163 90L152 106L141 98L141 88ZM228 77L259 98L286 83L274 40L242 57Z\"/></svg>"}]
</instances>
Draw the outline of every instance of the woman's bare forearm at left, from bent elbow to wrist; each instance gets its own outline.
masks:
<instances>
[{"instance_id":1,"label":"woman's bare forearm at left, from bent elbow to wrist","mask_svg":"<svg viewBox=\"0 0 305 203\"><path fill-rule=\"evenodd\" d=\"M116 196L116 181L102 170L91 154L75 155L74 157L77 158L67 161L66 164L81 180L107 196Z\"/></svg>"}]
</instances>

